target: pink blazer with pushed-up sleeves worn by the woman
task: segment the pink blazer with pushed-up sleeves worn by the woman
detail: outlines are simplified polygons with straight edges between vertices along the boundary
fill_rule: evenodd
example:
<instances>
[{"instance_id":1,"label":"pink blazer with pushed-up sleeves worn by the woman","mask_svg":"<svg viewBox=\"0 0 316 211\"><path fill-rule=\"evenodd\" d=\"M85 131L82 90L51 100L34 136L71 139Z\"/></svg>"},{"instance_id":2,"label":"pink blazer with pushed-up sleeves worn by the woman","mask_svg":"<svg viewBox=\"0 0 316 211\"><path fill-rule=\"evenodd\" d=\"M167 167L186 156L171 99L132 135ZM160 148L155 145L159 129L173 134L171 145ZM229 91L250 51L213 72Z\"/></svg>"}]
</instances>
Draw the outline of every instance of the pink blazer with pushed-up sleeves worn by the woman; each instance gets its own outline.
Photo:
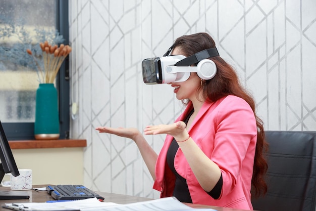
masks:
<instances>
[{"instance_id":1,"label":"pink blazer with pushed-up sleeves worn by the woman","mask_svg":"<svg viewBox=\"0 0 316 211\"><path fill-rule=\"evenodd\" d=\"M190 103L176 121L184 120L192 109ZM253 209L250 188L257 128L249 104L229 95L216 102L205 102L188 130L194 142L221 169L222 193L219 199L210 197L197 182L181 149L175 156L176 171L186 179L193 203ZM161 197L172 196L175 176L166 162L167 150L173 140L167 135L155 166L153 188Z\"/></svg>"}]
</instances>

